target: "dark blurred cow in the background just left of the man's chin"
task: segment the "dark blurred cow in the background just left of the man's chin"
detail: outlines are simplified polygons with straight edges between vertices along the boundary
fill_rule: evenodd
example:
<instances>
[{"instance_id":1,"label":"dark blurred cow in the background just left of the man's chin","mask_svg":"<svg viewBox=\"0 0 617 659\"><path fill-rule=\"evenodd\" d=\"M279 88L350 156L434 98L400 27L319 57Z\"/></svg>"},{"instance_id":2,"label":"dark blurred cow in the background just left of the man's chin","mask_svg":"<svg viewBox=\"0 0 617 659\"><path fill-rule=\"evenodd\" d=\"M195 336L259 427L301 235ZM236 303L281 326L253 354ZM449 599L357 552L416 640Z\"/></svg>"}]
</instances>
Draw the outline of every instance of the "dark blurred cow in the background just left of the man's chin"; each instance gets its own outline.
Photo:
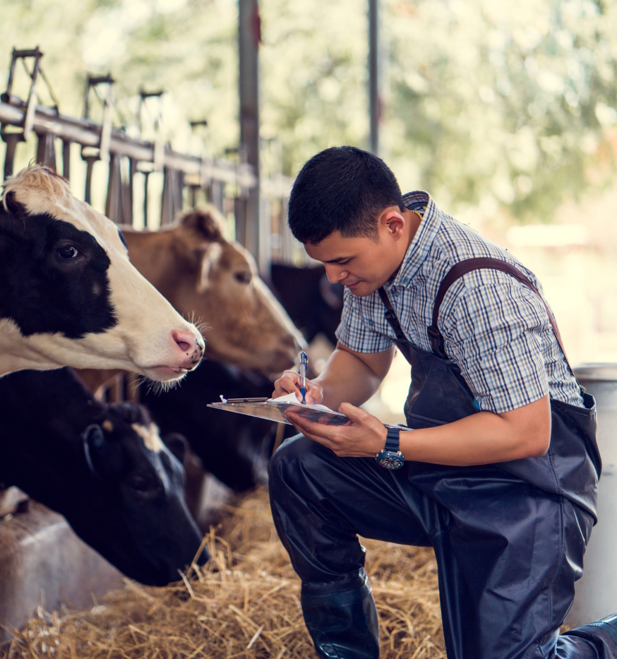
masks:
<instances>
[{"instance_id":1,"label":"dark blurred cow in the background just left of the man's chin","mask_svg":"<svg viewBox=\"0 0 617 659\"><path fill-rule=\"evenodd\" d=\"M296 268L285 263L270 266L272 292L294 325L311 343L323 333L336 345L335 331L343 308L343 287L328 281L323 266Z\"/></svg>"}]
</instances>

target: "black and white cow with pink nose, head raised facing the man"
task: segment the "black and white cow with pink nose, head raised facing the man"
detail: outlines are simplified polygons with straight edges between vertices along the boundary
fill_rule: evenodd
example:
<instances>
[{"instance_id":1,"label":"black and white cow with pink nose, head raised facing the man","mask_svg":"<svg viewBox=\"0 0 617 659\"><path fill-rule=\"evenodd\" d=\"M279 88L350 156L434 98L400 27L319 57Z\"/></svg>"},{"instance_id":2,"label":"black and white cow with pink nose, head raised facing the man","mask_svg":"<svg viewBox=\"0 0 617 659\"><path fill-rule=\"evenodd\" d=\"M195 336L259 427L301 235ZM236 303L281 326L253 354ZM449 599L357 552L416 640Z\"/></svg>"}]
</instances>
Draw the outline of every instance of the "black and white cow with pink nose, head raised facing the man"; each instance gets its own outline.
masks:
<instances>
[{"instance_id":1,"label":"black and white cow with pink nose, head raised facing the man","mask_svg":"<svg viewBox=\"0 0 617 659\"><path fill-rule=\"evenodd\" d=\"M128 261L116 225L47 167L4 184L0 280L0 375L72 366L172 382L203 355L197 328Z\"/></svg>"}]
</instances>

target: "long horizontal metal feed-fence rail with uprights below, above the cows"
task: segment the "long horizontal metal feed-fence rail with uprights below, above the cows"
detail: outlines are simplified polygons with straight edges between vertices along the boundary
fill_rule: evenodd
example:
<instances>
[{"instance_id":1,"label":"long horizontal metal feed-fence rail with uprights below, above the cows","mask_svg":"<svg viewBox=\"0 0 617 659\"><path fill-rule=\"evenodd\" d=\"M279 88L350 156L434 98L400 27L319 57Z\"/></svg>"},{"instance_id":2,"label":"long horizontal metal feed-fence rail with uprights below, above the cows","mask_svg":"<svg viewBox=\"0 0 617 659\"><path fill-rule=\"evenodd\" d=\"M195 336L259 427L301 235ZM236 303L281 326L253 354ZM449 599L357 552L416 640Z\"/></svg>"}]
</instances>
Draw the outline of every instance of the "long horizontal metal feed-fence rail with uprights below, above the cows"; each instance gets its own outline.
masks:
<instances>
[{"instance_id":1,"label":"long horizontal metal feed-fence rail with uprights below, above the cows","mask_svg":"<svg viewBox=\"0 0 617 659\"><path fill-rule=\"evenodd\" d=\"M13 173L13 160L18 141L23 141L23 133L8 133L7 126L20 128L24 125L27 104L18 97L4 95L5 100L0 101L0 124L2 124L2 138L6 141L6 154L4 163L4 178ZM99 160L99 149L102 137L102 126L89 119L74 119L58 114L55 109L41 105L35 107L32 112L32 131L37 133L40 139L39 158L41 162L55 165L54 143L56 139L62 141L63 173L68 178L70 172L70 145L75 142L82 148L82 158L86 162L85 201L91 202L92 170L95 162ZM208 198L222 212L225 208L233 208L236 224L236 239L250 247L253 244L254 235L258 227L251 225L248 217L248 204L246 192L258 184L255 172L251 165L244 162L244 158L236 161L209 158L207 156L196 156L179 153L170 146L155 144L137 138L131 138L118 129L109 132L109 153L111 174L109 183L112 189L108 190L107 211L114 219L131 222L132 219L132 192L133 176L136 172L144 176L144 199L143 214L145 225L148 226L148 173L155 164L155 160L167 176L167 186L162 200L162 223L172 221L176 213L183 206L182 189L189 186L193 190L192 198L196 199L198 190L208 192ZM124 181L126 176L120 173L120 162L126 163L128 159L129 172L128 182ZM112 164L113 163L113 164ZM280 174L271 175L260 182L260 192L264 199L279 199L283 208L286 206L287 196L291 182L287 177ZM226 198L229 194L233 197ZM270 202L263 203L263 210L270 207ZM267 213L266 213L267 214ZM267 218L260 222L262 239L270 241L268 235ZM286 227L285 227L286 229ZM270 228L271 231L271 228ZM277 249L280 250L279 258L296 261L296 250L292 247L289 235L281 227L280 242ZM247 244L250 243L250 244ZM260 261L268 259L272 246L270 244L260 245L259 254L254 254ZM262 263L263 265L263 263Z\"/></svg>"}]
</instances>

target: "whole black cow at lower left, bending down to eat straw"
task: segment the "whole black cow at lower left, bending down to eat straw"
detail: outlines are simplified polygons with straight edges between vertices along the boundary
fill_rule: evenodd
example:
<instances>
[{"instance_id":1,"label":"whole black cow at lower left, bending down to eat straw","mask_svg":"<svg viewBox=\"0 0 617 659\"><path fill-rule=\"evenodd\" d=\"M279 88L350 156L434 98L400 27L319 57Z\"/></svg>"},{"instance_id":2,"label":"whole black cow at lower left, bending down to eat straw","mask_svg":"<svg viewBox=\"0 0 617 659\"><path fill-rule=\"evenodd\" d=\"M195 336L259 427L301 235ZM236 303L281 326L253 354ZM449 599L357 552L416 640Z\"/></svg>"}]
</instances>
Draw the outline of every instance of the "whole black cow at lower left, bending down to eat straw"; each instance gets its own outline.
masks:
<instances>
[{"instance_id":1,"label":"whole black cow at lower left, bending down to eat straw","mask_svg":"<svg viewBox=\"0 0 617 659\"><path fill-rule=\"evenodd\" d=\"M0 379L0 482L64 515L141 583L177 581L193 558L209 558L196 557L202 535L184 502L182 457L145 408L98 402L70 369Z\"/></svg>"}]
</instances>

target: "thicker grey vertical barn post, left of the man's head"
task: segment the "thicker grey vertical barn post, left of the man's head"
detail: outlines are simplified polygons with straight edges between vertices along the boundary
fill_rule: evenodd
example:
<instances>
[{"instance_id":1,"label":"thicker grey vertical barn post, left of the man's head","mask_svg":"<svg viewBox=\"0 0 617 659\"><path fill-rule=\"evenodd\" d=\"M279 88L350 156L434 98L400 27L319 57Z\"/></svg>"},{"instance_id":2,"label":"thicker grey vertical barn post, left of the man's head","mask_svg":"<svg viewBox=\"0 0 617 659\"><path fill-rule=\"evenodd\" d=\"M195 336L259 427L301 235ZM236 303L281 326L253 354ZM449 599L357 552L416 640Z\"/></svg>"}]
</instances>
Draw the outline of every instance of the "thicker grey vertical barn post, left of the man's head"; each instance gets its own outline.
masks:
<instances>
[{"instance_id":1,"label":"thicker grey vertical barn post, left of the man's head","mask_svg":"<svg viewBox=\"0 0 617 659\"><path fill-rule=\"evenodd\" d=\"M238 0L240 148L253 167L256 186L248 190L244 246L258 258L259 249L259 58L261 28L258 0ZM236 205L240 206L240 205ZM260 271L265 264L258 263Z\"/></svg>"}]
</instances>

